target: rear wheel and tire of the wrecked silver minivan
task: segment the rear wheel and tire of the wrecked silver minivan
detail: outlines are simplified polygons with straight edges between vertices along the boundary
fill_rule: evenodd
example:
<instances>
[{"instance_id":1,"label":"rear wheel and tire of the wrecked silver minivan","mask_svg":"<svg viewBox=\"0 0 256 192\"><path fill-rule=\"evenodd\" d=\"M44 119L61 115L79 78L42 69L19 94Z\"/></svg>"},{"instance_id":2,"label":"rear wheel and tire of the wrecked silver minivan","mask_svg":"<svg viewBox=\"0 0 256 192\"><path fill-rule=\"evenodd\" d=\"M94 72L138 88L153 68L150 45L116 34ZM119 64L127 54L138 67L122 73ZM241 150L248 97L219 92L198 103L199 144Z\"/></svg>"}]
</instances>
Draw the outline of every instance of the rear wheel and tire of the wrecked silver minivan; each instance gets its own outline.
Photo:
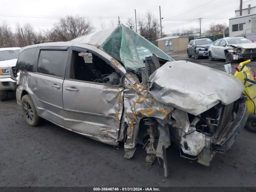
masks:
<instances>
[{"instance_id":1,"label":"rear wheel and tire of the wrecked silver minivan","mask_svg":"<svg viewBox=\"0 0 256 192\"><path fill-rule=\"evenodd\" d=\"M21 108L30 126L37 126L40 123L40 117L37 115L34 103L29 95L24 95L21 99Z\"/></svg>"}]
</instances>

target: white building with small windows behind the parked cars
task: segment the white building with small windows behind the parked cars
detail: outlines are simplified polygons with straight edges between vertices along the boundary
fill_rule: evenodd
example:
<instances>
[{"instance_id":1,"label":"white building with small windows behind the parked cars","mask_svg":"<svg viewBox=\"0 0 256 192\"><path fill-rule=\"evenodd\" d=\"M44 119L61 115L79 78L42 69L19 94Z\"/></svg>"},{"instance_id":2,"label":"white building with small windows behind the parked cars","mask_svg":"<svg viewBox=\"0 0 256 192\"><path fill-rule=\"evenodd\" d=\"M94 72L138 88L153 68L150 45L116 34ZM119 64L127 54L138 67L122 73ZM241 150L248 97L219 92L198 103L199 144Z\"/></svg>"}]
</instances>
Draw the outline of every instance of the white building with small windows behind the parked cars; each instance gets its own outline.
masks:
<instances>
[{"instance_id":1,"label":"white building with small windows behind the parked cars","mask_svg":"<svg viewBox=\"0 0 256 192\"><path fill-rule=\"evenodd\" d=\"M242 16L239 7L235 17L229 19L229 36L256 33L256 0L246 0L242 4Z\"/></svg>"}]
</instances>

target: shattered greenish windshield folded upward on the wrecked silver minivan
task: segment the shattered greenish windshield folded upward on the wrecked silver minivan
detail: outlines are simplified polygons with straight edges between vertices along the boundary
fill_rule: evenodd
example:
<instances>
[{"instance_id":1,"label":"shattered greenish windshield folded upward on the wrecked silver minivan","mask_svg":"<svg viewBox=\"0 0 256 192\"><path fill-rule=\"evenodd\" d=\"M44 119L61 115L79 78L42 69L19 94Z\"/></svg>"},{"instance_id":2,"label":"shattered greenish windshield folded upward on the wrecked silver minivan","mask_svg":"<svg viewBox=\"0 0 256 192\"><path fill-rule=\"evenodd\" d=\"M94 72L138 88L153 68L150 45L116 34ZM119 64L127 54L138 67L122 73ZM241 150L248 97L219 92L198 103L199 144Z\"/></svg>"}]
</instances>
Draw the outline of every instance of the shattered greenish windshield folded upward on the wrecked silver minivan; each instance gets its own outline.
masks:
<instances>
[{"instance_id":1,"label":"shattered greenish windshield folded upward on the wrecked silver minivan","mask_svg":"<svg viewBox=\"0 0 256 192\"><path fill-rule=\"evenodd\" d=\"M152 54L163 60L174 61L154 44L122 24L108 36L101 48L122 62L126 70L145 67L145 57L152 56Z\"/></svg>"}]
</instances>

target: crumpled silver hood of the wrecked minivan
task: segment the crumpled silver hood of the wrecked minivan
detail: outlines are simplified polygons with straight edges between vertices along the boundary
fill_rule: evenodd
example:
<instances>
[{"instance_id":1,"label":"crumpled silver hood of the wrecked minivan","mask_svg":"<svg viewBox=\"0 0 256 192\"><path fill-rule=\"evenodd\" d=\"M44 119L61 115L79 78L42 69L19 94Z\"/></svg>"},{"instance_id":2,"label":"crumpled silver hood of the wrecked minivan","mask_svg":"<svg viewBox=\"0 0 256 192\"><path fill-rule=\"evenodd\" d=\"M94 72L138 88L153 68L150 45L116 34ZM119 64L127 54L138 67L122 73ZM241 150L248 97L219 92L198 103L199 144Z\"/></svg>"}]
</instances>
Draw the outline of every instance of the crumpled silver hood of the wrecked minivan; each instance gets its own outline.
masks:
<instances>
[{"instance_id":1,"label":"crumpled silver hood of the wrecked minivan","mask_svg":"<svg viewBox=\"0 0 256 192\"><path fill-rule=\"evenodd\" d=\"M238 78L192 62L167 62L150 76L150 94L156 100L193 115L219 102L236 101L244 92Z\"/></svg>"}]
</instances>

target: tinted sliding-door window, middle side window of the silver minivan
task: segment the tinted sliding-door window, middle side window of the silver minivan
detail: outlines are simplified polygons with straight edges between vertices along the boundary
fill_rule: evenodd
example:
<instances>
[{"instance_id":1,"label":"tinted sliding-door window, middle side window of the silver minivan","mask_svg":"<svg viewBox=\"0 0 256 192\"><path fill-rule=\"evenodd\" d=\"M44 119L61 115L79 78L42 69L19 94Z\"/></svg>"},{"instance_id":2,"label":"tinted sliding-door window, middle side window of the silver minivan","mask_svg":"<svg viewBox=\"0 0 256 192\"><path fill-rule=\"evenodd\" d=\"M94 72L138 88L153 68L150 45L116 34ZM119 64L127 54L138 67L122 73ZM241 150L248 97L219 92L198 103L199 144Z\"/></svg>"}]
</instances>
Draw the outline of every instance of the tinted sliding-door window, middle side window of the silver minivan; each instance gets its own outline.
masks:
<instances>
[{"instance_id":1,"label":"tinted sliding-door window, middle side window of the silver minivan","mask_svg":"<svg viewBox=\"0 0 256 192\"><path fill-rule=\"evenodd\" d=\"M67 54L66 50L41 50L37 72L64 78Z\"/></svg>"}]
</instances>

